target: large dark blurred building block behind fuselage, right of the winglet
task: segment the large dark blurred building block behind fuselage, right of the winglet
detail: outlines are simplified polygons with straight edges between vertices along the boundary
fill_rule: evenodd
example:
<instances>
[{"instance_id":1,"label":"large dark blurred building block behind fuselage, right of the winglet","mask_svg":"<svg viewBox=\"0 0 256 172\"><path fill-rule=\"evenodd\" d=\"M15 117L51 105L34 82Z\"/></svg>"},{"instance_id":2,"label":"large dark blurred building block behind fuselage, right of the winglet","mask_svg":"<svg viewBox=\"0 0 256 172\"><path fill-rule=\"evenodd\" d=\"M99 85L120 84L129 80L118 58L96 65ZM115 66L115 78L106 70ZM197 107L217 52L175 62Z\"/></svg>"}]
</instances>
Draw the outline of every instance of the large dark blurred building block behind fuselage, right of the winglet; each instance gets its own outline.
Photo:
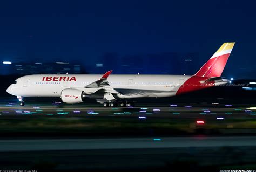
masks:
<instances>
[{"instance_id":1,"label":"large dark blurred building block behind fuselage, right of the winglet","mask_svg":"<svg viewBox=\"0 0 256 172\"><path fill-rule=\"evenodd\" d=\"M90 73L113 70L116 74L186 74L192 75L200 68L199 53L165 52L159 54L134 54L118 56L105 53L90 68Z\"/></svg>"}]
</instances>

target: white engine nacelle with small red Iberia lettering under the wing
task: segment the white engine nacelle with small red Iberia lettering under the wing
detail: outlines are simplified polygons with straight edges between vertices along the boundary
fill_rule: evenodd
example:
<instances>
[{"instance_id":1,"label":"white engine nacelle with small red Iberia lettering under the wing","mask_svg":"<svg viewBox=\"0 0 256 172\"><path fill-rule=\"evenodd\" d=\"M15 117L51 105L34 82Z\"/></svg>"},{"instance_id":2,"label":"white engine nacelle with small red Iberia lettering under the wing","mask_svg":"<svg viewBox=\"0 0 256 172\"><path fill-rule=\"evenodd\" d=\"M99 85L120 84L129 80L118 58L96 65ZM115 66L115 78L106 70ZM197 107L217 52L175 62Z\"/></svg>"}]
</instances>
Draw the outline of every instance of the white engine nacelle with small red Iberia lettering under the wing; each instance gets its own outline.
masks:
<instances>
[{"instance_id":1,"label":"white engine nacelle with small red Iberia lettering under the wing","mask_svg":"<svg viewBox=\"0 0 256 172\"><path fill-rule=\"evenodd\" d=\"M67 104L77 104L80 102L83 102L84 100L84 91L77 90L73 88L67 88L65 90L62 90L62 94L60 95L60 98L63 102Z\"/></svg>"}]
</instances>

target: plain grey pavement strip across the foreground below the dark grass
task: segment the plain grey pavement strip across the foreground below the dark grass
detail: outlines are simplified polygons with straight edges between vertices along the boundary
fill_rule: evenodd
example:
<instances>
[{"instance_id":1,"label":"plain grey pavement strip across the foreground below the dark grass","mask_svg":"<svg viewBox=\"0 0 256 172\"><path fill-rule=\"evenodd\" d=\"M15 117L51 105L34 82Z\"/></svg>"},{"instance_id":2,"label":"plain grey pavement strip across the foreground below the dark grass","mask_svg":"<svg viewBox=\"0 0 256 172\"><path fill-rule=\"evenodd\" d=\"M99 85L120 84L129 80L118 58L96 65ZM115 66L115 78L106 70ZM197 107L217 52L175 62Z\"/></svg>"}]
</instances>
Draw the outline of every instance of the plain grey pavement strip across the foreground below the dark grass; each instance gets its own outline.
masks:
<instances>
[{"instance_id":1,"label":"plain grey pavement strip across the foreground below the dark grass","mask_svg":"<svg viewBox=\"0 0 256 172\"><path fill-rule=\"evenodd\" d=\"M0 152L256 146L256 136L0 140Z\"/></svg>"}]
</instances>

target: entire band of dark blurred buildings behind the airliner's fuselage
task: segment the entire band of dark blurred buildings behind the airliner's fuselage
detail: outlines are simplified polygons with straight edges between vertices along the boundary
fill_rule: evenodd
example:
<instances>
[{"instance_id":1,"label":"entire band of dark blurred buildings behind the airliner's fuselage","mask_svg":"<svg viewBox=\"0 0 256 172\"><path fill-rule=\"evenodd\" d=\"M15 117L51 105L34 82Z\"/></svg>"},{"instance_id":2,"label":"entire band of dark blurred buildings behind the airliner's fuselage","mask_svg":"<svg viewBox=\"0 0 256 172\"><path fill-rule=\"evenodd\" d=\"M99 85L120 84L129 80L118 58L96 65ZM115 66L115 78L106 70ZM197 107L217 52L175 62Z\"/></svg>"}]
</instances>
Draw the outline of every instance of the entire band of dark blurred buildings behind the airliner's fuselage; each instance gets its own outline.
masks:
<instances>
[{"instance_id":1,"label":"entire band of dark blurred buildings behind the airliner's fuselage","mask_svg":"<svg viewBox=\"0 0 256 172\"><path fill-rule=\"evenodd\" d=\"M39 61L39 62L36 62ZM10 64L11 63L11 64ZM21 60L10 59L0 64L0 75L26 74L81 74L105 73L113 70L114 74L186 74L192 75L200 68L199 54L165 52L156 54L132 54L119 56L114 52L104 53L95 59L74 61Z\"/></svg>"}]
</instances>

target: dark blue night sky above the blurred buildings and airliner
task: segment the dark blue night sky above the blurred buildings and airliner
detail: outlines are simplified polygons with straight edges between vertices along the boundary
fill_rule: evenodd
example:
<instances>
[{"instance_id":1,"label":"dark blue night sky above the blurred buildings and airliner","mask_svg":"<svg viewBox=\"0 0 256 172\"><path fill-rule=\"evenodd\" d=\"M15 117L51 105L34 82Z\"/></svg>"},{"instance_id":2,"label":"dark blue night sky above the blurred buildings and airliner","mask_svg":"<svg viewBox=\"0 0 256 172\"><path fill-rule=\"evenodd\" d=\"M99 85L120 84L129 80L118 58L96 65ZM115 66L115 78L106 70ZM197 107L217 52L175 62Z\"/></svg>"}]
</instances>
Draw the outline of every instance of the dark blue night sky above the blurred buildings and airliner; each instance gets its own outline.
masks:
<instances>
[{"instance_id":1,"label":"dark blue night sky above the blurred buildings and airliner","mask_svg":"<svg viewBox=\"0 0 256 172\"><path fill-rule=\"evenodd\" d=\"M79 60L86 66L106 52L198 52L201 66L221 44L236 42L224 72L252 77L255 6L223 0L1 1L0 60Z\"/></svg>"}]
</instances>

